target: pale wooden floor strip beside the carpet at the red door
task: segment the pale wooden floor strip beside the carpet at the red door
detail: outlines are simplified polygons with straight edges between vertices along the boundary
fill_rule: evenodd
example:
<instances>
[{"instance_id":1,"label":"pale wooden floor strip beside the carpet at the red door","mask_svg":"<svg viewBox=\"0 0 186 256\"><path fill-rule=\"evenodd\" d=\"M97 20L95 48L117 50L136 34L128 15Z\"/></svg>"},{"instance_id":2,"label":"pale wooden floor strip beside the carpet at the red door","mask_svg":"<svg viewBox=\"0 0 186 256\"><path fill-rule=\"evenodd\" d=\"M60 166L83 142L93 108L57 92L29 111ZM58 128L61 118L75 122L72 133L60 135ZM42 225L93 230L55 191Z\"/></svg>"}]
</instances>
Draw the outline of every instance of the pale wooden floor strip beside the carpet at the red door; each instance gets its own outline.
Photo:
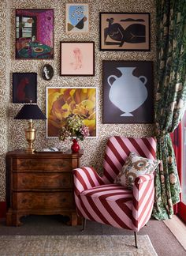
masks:
<instances>
[{"instance_id":1,"label":"pale wooden floor strip beside the carpet at the red door","mask_svg":"<svg viewBox=\"0 0 186 256\"><path fill-rule=\"evenodd\" d=\"M173 215L172 219L163 221L186 250L186 225L176 215Z\"/></svg>"}]
</instances>

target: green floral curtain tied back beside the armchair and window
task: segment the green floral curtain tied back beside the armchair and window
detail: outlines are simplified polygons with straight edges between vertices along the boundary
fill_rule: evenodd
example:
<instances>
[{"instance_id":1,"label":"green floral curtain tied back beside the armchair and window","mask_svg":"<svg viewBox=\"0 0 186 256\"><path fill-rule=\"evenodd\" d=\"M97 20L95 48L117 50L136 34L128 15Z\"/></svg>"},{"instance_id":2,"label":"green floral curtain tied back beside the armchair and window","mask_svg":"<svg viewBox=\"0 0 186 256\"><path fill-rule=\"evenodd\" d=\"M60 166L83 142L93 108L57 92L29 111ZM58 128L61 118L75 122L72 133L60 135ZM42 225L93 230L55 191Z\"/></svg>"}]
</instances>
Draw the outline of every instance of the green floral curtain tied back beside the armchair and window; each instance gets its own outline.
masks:
<instances>
[{"instance_id":1,"label":"green floral curtain tied back beside the armchair and window","mask_svg":"<svg viewBox=\"0 0 186 256\"><path fill-rule=\"evenodd\" d=\"M155 178L153 216L171 218L180 201L177 164L169 133L177 128L186 105L186 2L156 0L157 88L155 123L157 158L162 160Z\"/></svg>"}]
</instances>

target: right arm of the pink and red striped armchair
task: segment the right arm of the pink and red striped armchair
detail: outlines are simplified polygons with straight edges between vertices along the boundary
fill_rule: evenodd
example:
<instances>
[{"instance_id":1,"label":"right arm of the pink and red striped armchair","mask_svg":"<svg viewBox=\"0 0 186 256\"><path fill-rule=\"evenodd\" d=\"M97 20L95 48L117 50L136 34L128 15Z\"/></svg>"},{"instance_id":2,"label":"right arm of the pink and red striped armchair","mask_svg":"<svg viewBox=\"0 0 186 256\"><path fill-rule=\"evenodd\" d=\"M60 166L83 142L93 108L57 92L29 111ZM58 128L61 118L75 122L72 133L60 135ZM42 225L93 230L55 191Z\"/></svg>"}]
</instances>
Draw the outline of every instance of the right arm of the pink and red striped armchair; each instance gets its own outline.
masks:
<instances>
[{"instance_id":1,"label":"right arm of the pink and red striped armchair","mask_svg":"<svg viewBox=\"0 0 186 256\"><path fill-rule=\"evenodd\" d=\"M132 223L138 232L151 218L154 205L154 174L141 175L133 186Z\"/></svg>"}]
</instances>

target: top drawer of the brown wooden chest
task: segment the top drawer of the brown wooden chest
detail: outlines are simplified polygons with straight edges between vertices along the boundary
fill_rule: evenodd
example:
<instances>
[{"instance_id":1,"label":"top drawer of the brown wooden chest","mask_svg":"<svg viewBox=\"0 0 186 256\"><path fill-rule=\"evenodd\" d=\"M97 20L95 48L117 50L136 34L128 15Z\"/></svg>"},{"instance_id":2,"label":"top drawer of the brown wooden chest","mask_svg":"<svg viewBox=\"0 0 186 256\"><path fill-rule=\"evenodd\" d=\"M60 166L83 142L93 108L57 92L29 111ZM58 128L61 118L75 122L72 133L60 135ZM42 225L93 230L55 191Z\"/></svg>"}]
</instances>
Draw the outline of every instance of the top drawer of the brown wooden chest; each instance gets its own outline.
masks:
<instances>
[{"instance_id":1,"label":"top drawer of the brown wooden chest","mask_svg":"<svg viewBox=\"0 0 186 256\"><path fill-rule=\"evenodd\" d=\"M13 171L72 171L69 158L13 158Z\"/></svg>"}]
</instances>

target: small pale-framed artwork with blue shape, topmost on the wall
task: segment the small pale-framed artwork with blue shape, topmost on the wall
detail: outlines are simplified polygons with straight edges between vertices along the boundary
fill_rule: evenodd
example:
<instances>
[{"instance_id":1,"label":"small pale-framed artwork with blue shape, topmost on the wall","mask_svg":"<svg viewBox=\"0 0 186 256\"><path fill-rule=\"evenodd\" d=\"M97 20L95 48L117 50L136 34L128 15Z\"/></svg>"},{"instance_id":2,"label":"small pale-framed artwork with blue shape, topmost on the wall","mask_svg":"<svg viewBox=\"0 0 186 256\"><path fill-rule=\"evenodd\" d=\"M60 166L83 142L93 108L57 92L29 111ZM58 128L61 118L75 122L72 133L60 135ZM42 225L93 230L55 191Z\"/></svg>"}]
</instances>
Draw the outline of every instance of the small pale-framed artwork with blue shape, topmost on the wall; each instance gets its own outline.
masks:
<instances>
[{"instance_id":1,"label":"small pale-framed artwork with blue shape, topmost on the wall","mask_svg":"<svg viewBox=\"0 0 186 256\"><path fill-rule=\"evenodd\" d=\"M88 4L66 4L65 26L67 33L89 32Z\"/></svg>"}]
</instances>

